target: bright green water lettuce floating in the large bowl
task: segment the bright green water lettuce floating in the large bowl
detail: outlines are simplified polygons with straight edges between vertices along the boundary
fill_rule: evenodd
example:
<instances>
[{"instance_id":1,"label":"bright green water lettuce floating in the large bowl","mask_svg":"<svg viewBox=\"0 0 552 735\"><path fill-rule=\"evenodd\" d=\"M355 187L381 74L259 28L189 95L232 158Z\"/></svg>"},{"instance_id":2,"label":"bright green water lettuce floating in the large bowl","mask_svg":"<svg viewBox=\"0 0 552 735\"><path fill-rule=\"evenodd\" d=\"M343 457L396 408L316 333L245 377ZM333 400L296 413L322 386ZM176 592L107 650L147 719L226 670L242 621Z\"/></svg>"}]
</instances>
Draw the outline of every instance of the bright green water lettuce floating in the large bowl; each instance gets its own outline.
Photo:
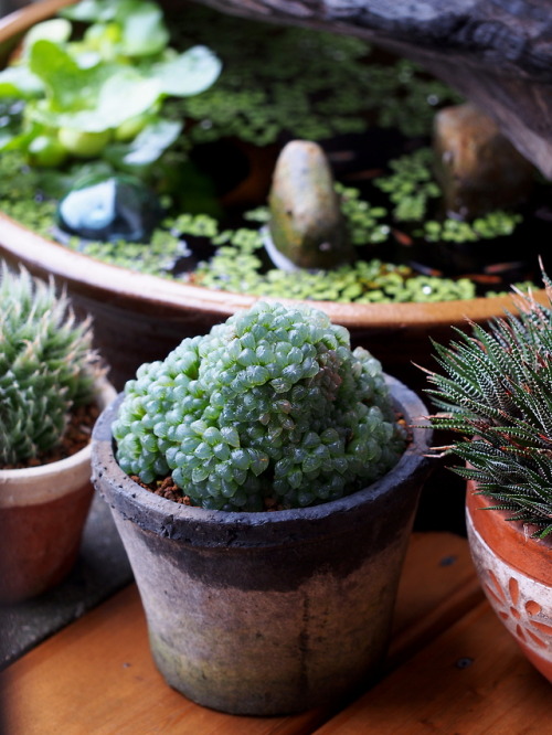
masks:
<instances>
[{"instance_id":1,"label":"bright green water lettuce floating in the large bowl","mask_svg":"<svg viewBox=\"0 0 552 735\"><path fill-rule=\"evenodd\" d=\"M32 153L50 139L68 155L151 164L182 130L163 118L163 100L200 94L221 72L205 46L178 53L168 44L156 2L84 0L36 24L0 72L0 98L24 100L21 125L0 131L0 151Z\"/></svg>"}]
</instances>

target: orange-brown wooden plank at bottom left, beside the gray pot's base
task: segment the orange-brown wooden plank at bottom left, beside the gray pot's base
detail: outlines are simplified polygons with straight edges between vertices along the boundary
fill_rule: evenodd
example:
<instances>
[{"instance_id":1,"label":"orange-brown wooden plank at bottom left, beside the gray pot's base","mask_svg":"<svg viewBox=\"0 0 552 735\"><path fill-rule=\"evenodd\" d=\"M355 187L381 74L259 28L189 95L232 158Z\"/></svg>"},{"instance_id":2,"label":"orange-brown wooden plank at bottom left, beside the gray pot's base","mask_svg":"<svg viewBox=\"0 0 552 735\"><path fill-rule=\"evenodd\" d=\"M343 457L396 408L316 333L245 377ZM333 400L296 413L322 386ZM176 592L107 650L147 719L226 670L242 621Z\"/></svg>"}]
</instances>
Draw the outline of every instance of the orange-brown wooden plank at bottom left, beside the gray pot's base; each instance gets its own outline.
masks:
<instances>
[{"instance_id":1,"label":"orange-brown wooden plank at bottom left, beside the gray pot's base","mask_svg":"<svg viewBox=\"0 0 552 735\"><path fill-rule=\"evenodd\" d=\"M150 658L135 585L17 661L4 677L10 735L301 732L300 721L291 731L275 731L269 720L212 712L167 686Z\"/></svg>"}]
</instances>

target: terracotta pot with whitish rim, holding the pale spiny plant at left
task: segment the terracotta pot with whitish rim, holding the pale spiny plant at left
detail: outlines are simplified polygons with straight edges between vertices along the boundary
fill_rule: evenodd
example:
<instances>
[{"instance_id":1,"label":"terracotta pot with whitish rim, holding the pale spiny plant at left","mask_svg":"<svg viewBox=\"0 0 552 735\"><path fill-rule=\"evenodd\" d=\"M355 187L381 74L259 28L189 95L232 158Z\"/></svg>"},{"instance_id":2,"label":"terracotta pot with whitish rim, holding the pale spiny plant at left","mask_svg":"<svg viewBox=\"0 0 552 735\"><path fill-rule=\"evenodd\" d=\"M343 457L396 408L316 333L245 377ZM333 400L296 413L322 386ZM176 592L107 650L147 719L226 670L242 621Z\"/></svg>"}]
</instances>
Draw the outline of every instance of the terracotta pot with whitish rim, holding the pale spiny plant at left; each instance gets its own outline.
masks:
<instances>
[{"instance_id":1,"label":"terracotta pot with whitish rim, holding the pale spiny plant at left","mask_svg":"<svg viewBox=\"0 0 552 735\"><path fill-rule=\"evenodd\" d=\"M98 406L115 397L98 382ZM94 488L91 445L72 457L29 469L0 469L0 603L50 589L73 567Z\"/></svg>"}]
</instances>

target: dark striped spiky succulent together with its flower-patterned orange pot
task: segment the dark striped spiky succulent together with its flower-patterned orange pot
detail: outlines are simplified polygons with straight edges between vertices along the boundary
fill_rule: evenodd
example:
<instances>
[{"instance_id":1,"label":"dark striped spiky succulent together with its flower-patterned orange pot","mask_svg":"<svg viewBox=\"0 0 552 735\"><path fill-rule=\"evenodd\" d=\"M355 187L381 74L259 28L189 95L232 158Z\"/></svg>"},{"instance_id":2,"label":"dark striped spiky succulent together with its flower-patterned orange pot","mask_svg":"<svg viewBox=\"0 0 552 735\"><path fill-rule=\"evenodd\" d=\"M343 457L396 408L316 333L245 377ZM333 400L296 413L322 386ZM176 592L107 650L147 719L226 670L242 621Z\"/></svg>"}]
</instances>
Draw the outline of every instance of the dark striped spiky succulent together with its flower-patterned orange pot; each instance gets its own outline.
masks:
<instances>
[{"instance_id":1,"label":"dark striped spiky succulent together with its flower-patterned orange pot","mask_svg":"<svg viewBox=\"0 0 552 735\"><path fill-rule=\"evenodd\" d=\"M487 597L528 659L552 682L552 284L517 295L519 313L448 347L429 390L436 428L466 465L466 521Z\"/></svg>"}]
</instances>

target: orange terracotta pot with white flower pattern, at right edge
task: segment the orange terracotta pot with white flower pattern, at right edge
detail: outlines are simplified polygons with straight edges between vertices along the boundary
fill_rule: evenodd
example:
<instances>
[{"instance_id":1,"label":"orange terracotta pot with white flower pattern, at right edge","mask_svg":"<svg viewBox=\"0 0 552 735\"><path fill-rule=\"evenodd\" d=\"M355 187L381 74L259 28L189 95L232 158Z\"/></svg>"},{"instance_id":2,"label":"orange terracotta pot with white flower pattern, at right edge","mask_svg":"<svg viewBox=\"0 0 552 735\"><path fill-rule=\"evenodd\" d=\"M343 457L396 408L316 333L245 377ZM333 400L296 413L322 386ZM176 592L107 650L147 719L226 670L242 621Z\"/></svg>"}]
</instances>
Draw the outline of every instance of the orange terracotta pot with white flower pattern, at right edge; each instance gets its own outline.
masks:
<instances>
[{"instance_id":1,"label":"orange terracotta pot with white flower pattern, at right edge","mask_svg":"<svg viewBox=\"0 0 552 735\"><path fill-rule=\"evenodd\" d=\"M495 612L531 663L552 683L552 539L537 541L534 529L482 510L493 501L474 494L468 482L466 521L481 586Z\"/></svg>"}]
</instances>

